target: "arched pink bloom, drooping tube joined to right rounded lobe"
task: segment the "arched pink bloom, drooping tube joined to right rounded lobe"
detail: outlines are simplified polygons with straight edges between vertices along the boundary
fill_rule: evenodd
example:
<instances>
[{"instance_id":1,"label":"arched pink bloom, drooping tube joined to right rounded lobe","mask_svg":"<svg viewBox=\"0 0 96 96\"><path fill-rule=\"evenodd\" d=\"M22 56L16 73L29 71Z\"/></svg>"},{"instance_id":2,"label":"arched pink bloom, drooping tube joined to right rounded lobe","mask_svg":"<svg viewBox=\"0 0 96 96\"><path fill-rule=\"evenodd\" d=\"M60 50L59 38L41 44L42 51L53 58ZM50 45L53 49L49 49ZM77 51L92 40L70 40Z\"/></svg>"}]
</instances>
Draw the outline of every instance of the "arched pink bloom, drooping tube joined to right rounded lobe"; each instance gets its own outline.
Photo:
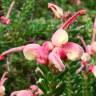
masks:
<instances>
[{"instance_id":1,"label":"arched pink bloom, drooping tube joined to right rounded lobe","mask_svg":"<svg viewBox=\"0 0 96 96\"><path fill-rule=\"evenodd\" d=\"M63 60L79 60L83 55L83 48L73 42L67 42L62 47L55 47L48 56L49 64L48 66L55 70L56 72L62 72L65 69L65 66L61 59Z\"/></svg>"}]
</instances>

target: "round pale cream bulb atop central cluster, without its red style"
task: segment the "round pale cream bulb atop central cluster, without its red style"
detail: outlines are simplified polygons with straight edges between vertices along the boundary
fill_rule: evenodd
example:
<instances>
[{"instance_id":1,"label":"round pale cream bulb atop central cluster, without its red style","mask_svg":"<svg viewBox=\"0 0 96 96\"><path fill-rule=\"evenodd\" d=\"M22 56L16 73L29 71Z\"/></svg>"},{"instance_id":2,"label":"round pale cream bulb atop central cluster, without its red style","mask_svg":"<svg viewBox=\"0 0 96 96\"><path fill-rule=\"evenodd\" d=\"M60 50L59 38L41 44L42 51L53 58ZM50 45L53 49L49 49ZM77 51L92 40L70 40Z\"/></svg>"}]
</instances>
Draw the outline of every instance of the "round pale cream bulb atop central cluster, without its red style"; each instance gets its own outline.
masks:
<instances>
[{"instance_id":1,"label":"round pale cream bulb atop central cluster, without its red style","mask_svg":"<svg viewBox=\"0 0 96 96\"><path fill-rule=\"evenodd\" d=\"M58 29L51 38L53 45L62 46L68 42L68 34L63 29Z\"/></svg>"}]
</instances>

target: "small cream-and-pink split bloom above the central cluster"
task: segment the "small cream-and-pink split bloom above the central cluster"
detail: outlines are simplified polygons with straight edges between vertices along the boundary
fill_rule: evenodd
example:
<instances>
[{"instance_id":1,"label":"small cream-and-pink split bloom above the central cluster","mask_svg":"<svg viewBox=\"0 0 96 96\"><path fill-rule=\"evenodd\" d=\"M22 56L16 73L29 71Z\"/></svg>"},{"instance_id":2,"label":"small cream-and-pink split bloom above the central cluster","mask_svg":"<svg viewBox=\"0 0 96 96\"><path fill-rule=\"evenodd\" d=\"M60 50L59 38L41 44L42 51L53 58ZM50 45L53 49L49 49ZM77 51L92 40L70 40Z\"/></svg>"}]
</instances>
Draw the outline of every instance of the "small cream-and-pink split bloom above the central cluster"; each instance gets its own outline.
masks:
<instances>
[{"instance_id":1,"label":"small cream-and-pink split bloom above the central cluster","mask_svg":"<svg viewBox=\"0 0 96 96\"><path fill-rule=\"evenodd\" d=\"M54 13L54 16L58 19L63 17L63 9L60 8L59 6L53 4L53 3L48 3L48 8L52 10Z\"/></svg>"}]
</instances>

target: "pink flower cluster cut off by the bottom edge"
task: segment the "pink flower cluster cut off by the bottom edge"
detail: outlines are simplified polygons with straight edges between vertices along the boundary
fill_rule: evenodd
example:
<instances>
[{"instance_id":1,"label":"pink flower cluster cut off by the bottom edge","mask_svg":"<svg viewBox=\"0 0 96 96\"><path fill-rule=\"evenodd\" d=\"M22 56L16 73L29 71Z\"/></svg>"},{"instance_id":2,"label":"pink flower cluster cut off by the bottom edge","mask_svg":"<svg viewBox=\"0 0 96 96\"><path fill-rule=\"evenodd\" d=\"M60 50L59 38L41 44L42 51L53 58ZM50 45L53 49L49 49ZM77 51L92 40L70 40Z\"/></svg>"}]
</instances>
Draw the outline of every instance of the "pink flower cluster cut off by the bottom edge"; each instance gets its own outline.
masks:
<instances>
[{"instance_id":1,"label":"pink flower cluster cut off by the bottom edge","mask_svg":"<svg viewBox=\"0 0 96 96\"><path fill-rule=\"evenodd\" d=\"M43 94L42 90L36 85L31 85L30 89L14 91L10 96L38 96Z\"/></svg>"}]
</instances>

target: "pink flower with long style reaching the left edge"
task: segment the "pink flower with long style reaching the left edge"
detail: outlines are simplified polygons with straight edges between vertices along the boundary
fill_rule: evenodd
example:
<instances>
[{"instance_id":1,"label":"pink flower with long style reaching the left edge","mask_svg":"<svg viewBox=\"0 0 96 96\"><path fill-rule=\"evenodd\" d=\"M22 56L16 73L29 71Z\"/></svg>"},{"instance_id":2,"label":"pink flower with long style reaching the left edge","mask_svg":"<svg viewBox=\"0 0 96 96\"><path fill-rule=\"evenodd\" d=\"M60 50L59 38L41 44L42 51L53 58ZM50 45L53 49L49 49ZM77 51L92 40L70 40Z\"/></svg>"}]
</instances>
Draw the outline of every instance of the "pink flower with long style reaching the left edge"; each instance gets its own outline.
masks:
<instances>
[{"instance_id":1,"label":"pink flower with long style reaching the left edge","mask_svg":"<svg viewBox=\"0 0 96 96\"><path fill-rule=\"evenodd\" d=\"M45 44L46 43L46 44ZM50 42L45 42L42 46L39 44L28 44L16 48L11 48L0 55L0 60L12 52L23 51L23 54L27 60L37 60L40 64L47 64L48 54L53 49L53 45Z\"/></svg>"}]
</instances>

